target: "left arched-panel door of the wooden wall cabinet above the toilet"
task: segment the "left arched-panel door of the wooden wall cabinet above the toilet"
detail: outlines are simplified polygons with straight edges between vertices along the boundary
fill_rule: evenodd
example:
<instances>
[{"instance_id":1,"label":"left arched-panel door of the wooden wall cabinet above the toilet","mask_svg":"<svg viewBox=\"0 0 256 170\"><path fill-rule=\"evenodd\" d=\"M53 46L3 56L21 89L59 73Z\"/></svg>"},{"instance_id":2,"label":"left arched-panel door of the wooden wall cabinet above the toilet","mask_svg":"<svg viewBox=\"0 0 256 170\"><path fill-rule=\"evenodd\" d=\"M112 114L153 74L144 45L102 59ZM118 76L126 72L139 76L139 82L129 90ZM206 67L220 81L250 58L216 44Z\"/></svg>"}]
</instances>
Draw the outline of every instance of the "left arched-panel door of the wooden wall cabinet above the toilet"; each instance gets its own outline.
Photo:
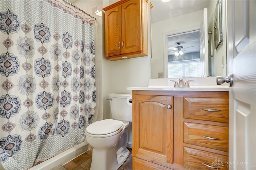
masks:
<instances>
[{"instance_id":1,"label":"left arched-panel door of the wooden wall cabinet above the toilet","mask_svg":"<svg viewBox=\"0 0 256 170\"><path fill-rule=\"evenodd\" d=\"M121 6L116 6L105 13L106 56L121 54Z\"/></svg>"}]
</instances>

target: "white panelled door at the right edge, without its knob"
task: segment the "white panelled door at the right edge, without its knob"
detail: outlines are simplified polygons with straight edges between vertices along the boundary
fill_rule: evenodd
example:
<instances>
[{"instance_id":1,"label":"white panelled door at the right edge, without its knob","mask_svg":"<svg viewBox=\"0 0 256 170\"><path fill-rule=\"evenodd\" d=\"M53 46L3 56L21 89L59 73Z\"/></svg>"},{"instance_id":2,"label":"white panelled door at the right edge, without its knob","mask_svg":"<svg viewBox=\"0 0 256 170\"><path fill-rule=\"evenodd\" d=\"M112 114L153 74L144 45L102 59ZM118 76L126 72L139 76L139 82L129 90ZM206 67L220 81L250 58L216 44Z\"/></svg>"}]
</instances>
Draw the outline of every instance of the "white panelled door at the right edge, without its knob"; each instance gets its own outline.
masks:
<instances>
[{"instance_id":1,"label":"white panelled door at the right edge, without its knob","mask_svg":"<svg viewBox=\"0 0 256 170\"><path fill-rule=\"evenodd\" d=\"M229 169L256 170L256 1L227 0Z\"/></svg>"}]
</instances>

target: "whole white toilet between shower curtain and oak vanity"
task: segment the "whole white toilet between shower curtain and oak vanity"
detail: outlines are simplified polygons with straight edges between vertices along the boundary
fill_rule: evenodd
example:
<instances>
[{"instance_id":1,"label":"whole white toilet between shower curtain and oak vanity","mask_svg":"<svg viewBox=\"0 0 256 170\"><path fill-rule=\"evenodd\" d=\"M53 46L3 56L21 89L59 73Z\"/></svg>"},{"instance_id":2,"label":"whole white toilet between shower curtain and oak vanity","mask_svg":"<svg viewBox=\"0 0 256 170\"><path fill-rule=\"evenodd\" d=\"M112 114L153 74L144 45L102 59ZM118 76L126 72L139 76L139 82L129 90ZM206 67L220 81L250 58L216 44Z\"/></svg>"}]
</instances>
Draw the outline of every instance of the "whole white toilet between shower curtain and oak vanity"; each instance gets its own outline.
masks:
<instances>
[{"instance_id":1,"label":"whole white toilet between shower curtain and oak vanity","mask_svg":"<svg viewBox=\"0 0 256 170\"><path fill-rule=\"evenodd\" d=\"M92 146L90 170L117 170L130 153L126 148L126 128L132 124L131 95L112 93L108 97L113 119L96 121L85 132L87 142Z\"/></svg>"}]
</instances>

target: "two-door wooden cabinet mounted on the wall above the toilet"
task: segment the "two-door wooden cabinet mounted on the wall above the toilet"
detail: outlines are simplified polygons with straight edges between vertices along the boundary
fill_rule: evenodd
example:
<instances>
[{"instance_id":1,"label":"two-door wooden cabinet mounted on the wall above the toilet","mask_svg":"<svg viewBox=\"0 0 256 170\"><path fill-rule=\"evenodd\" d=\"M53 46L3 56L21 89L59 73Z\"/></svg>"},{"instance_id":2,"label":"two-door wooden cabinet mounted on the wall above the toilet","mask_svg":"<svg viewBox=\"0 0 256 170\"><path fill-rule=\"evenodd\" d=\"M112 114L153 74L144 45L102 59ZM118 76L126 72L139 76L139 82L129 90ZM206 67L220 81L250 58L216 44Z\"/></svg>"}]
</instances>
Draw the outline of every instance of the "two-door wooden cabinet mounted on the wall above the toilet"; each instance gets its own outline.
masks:
<instances>
[{"instance_id":1,"label":"two-door wooden cabinet mounted on the wall above the toilet","mask_svg":"<svg viewBox=\"0 0 256 170\"><path fill-rule=\"evenodd\" d=\"M106 59L148 55L147 3L147 0L120 0L103 8Z\"/></svg>"}]
</instances>

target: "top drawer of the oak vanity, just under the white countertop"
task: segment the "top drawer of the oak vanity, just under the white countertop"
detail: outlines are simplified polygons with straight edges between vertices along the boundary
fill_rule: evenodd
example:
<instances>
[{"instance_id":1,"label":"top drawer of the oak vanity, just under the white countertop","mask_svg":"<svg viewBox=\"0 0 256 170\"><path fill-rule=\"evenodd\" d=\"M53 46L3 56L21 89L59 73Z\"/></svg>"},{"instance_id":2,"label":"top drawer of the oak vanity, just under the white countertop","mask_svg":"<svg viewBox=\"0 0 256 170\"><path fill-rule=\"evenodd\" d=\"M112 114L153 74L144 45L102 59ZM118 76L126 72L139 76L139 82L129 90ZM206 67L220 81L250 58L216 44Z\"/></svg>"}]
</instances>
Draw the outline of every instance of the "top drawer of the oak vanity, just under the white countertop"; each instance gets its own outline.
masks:
<instances>
[{"instance_id":1,"label":"top drawer of the oak vanity, just under the white countertop","mask_svg":"<svg viewBox=\"0 0 256 170\"><path fill-rule=\"evenodd\" d=\"M184 97L184 118L228 123L228 99Z\"/></svg>"}]
</instances>

